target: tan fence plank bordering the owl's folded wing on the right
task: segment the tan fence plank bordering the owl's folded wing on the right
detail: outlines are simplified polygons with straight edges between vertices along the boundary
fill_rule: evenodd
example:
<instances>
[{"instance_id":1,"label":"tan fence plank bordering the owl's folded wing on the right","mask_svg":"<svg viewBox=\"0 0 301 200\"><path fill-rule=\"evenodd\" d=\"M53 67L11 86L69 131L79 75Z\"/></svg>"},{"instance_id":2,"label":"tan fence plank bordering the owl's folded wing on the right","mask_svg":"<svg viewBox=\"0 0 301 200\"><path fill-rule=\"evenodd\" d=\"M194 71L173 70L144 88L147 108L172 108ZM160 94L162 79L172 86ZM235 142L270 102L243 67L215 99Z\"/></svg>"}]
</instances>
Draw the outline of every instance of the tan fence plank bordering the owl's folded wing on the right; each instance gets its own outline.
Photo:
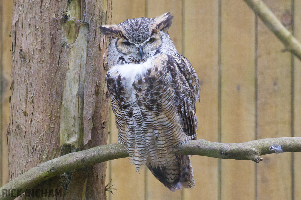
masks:
<instances>
[{"instance_id":1,"label":"tan fence plank bordering the owl's folded wing on the right","mask_svg":"<svg viewBox=\"0 0 301 200\"><path fill-rule=\"evenodd\" d=\"M185 1L184 56L200 79L197 139L218 141L218 0ZM218 199L218 159L191 157L195 187L184 199Z\"/></svg>"}]
</instances>

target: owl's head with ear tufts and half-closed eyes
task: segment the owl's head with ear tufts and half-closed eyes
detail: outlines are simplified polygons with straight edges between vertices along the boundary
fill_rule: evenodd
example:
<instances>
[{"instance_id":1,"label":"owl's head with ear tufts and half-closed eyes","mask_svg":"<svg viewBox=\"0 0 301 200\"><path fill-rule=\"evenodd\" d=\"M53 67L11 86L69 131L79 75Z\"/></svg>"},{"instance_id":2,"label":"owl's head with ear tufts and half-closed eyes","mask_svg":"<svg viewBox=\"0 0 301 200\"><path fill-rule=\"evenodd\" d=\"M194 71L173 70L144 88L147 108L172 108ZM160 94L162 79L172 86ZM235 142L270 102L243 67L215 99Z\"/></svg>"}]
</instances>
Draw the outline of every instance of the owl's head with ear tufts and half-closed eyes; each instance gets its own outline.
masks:
<instances>
[{"instance_id":1,"label":"owl's head with ear tufts and half-closed eyes","mask_svg":"<svg viewBox=\"0 0 301 200\"><path fill-rule=\"evenodd\" d=\"M117 25L100 26L102 33L110 37L108 61L115 64L119 61L139 63L159 52L175 50L167 33L172 18L165 13L156 18L140 17Z\"/></svg>"}]
</instances>

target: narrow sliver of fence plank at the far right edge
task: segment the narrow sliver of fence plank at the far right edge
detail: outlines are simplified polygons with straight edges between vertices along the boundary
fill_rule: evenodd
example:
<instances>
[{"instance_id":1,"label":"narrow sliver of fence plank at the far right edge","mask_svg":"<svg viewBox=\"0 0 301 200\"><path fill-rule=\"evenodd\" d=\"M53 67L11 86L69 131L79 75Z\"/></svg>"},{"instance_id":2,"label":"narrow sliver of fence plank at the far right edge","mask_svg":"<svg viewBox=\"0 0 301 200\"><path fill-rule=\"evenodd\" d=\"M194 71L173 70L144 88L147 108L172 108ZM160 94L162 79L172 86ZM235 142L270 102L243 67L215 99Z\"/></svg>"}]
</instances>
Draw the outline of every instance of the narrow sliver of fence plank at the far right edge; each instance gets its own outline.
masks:
<instances>
[{"instance_id":1,"label":"narrow sliver of fence plank at the far right edge","mask_svg":"<svg viewBox=\"0 0 301 200\"><path fill-rule=\"evenodd\" d=\"M299 42L301 41L301 1L294 1L294 16L293 16L293 25L294 25L294 35ZM294 57L294 136L301 136L301 61ZM294 168L294 199L301 199L301 153L294 153L293 160Z\"/></svg>"}]
</instances>

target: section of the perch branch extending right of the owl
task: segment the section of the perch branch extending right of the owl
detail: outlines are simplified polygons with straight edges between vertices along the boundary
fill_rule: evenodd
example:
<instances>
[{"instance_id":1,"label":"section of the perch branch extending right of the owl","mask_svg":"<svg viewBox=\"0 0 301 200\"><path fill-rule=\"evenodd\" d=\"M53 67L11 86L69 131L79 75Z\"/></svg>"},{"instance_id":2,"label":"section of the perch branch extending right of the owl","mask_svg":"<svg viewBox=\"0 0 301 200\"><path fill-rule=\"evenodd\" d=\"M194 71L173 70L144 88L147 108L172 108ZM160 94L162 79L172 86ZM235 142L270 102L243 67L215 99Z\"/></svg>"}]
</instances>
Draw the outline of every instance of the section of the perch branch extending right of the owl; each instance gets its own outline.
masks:
<instances>
[{"instance_id":1,"label":"section of the perch branch extending right of the owl","mask_svg":"<svg viewBox=\"0 0 301 200\"><path fill-rule=\"evenodd\" d=\"M262 161L260 156L280 152L301 151L301 137L283 137L253 140L242 143L219 143L191 140L179 146L175 154L190 154L223 159Z\"/></svg>"}]
</instances>

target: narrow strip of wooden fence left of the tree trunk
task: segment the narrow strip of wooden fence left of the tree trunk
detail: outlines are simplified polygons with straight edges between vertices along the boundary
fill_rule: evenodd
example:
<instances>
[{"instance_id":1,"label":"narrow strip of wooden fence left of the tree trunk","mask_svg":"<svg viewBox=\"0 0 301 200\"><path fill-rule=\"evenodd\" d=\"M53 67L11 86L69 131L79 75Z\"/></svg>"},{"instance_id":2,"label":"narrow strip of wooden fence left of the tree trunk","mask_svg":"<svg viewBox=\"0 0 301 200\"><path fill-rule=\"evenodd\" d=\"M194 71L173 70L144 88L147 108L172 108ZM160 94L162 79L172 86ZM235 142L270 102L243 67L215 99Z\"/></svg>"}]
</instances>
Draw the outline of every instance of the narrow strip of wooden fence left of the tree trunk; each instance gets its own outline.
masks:
<instances>
[{"instance_id":1,"label":"narrow strip of wooden fence left of the tree trunk","mask_svg":"<svg viewBox=\"0 0 301 200\"><path fill-rule=\"evenodd\" d=\"M6 139L6 125L9 121L9 97L11 91L9 90L11 86L11 38L9 37L9 32L11 31L11 19L12 19L12 6L13 2L10 0L2 0L2 18L0 19L1 27L0 31L2 34L2 39L0 41L1 50L1 65L2 65L2 83L1 83L1 130L2 135L2 154L0 155L0 167L2 182L0 186L5 185L8 182L8 148Z\"/></svg>"}]
</instances>

